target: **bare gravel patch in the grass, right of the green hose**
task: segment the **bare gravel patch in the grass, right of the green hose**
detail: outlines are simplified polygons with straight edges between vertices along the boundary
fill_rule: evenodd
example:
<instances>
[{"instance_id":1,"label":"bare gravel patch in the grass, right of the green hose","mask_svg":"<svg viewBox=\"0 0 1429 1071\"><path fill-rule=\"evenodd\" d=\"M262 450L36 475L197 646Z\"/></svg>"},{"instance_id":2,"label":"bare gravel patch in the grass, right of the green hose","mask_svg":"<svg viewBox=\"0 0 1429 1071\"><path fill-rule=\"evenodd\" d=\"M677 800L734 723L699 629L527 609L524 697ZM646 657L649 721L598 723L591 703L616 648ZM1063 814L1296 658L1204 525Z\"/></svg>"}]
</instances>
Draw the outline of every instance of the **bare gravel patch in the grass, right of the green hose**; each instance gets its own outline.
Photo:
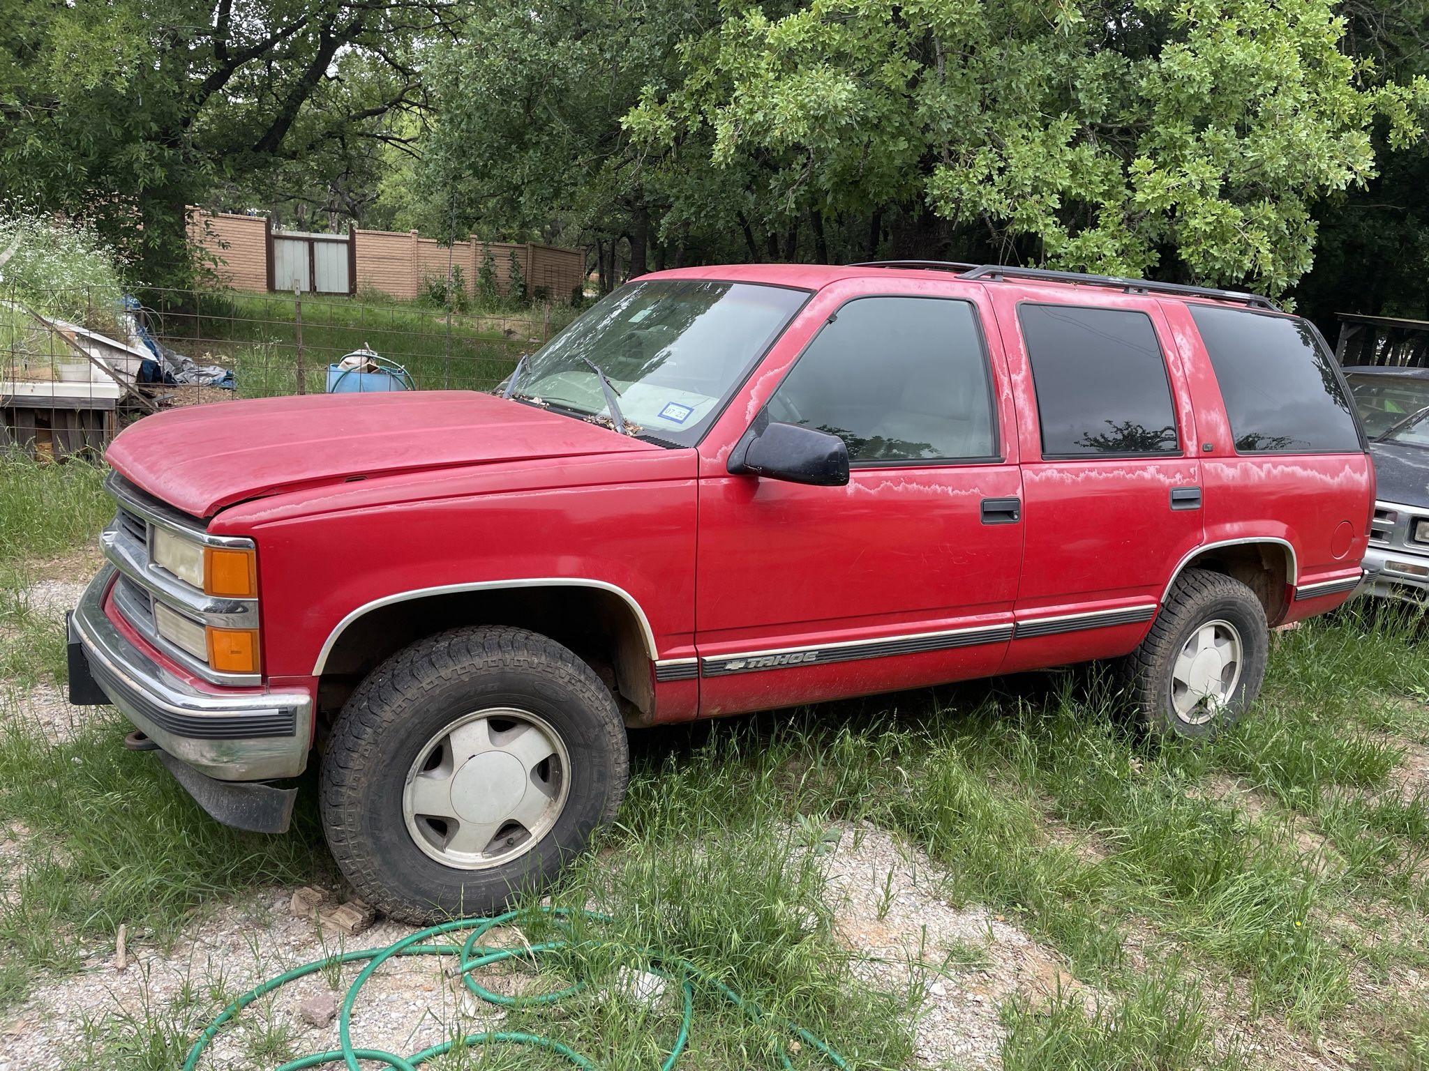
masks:
<instances>
[{"instance_id":1,"label":"bare gravel patch in the grass, right of the green hose","mask_svg":"<svg viewBox=\"0 0 1429 1071\"><path fill-rule=\"evenodd\" d=\"M937 865L883 830L845 827L826 867L835 931L866 957L855 972L885 990L923 988L920 1067L1000 1067L1000 1010L1013 997L1046 1004L1060 990L1089 1008L1105 1000L1002 915L950 907Z\"/></svg>"}]
</instances>

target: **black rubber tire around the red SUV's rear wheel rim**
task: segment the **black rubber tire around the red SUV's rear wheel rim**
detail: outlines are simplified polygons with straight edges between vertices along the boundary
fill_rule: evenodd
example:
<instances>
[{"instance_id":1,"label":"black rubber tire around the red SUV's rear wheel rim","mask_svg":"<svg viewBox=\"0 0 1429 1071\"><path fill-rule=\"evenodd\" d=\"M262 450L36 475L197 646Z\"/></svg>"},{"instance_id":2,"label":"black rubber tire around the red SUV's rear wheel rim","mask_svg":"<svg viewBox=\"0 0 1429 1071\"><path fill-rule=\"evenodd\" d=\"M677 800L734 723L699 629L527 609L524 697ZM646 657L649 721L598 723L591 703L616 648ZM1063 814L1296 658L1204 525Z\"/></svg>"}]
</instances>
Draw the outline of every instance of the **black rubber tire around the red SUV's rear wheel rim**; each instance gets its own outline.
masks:
<instances>
[{"instance_id":1,"label":"black rubber tire around the red SUV's rear wheel rim","mask_svg":"<svg viewBox=\"0 0 1429 1071\"><path fill-rule=\"evenodd\" d=\"M1229 621L1240 634L1240 680L1229 701L1203 723L1180 717L1172 704L1172 668L1186 641L1208 621ZM1270 650L1265 608L1255 593L1222 573L1187 568L1140 645L1117 667L1122 688L1143 727L1157 737L1206 738L1233 725L1260 693Z\"/></svg>"}]
</instances>

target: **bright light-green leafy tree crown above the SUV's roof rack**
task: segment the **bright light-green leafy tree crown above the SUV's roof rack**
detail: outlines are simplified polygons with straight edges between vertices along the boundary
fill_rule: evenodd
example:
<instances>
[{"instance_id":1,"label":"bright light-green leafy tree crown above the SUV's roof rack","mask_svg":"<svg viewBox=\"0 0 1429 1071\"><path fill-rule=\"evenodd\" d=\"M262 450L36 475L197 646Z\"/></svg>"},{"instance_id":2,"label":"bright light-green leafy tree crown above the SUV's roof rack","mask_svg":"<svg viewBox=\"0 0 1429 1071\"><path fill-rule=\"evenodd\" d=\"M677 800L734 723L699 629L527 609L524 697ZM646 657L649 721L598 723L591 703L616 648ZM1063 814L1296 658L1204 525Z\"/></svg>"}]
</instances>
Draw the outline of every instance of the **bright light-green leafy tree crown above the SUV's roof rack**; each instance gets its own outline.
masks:
<instances>
[{"instance_id":1,"label":"bright light-green leafy tree crown above the SUV's roof rack","mask_svg":"<svg viewBox=\"0 0 1429 1071\"><path fill-rule=\"evenodd\" d=\"M683 84L652 83L626 127L740 176L746 223L789 246L866 220L870 256L887 234L1280 293L1310 266L1315 200L1375 174L1375 120L1390 147L1423 137L1429 86L1370 84L1342 33L1329 0L747 7L687 43Z\"/></svg>"}]
</instances>

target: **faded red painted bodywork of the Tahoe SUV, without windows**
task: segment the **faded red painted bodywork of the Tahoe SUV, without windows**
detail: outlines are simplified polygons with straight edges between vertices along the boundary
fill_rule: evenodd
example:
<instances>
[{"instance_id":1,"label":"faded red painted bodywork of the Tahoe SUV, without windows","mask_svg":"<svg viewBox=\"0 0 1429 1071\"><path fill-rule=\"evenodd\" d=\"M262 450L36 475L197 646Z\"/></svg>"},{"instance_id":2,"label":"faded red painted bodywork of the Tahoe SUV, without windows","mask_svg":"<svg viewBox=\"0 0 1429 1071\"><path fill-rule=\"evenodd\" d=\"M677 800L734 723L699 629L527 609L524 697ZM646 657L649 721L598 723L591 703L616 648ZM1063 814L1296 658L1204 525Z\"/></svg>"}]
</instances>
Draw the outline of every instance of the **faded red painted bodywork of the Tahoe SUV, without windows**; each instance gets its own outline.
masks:
<instances>
[{"instance_id":1,"label":"faded red painted bodywork of the Tahoe SUV, without windows","mask_svg":"<svg viewBox=\"0 0 1429 1071\"><path fill-rule=\"evenodd\" d=\"M1358 575L1375 490L1369 457L1238 456L1182 298L822 266L686 268L646 278L673 277L813 293L693 448L636 441L487 394L443 391L167 413L124 431L109 460L150 494L211 517L211 533L256 540L263 665L270 683L284 687L316 688L324 645L354 611L450 584L580 578L619 588L649 624L652 673L654 660L1157 604L1198 547L1222 541L1290 545L1296 565L1282 621L1348 598L1293 594L1298 584ZM869 294L957 297L977 307L1003 460L860 466L846 487L730 476L730 450L805 344L839 306ZM1147 313L1166 353L1183 454L1042 460L1016 318L1023 300ZM1173 486L1202 487L1203 507L1170 511ZM979 503L989 497L1020 498L1022 523L983 526ZM662 681L656 717L1113 657L1136 647L1149 627ZM126 635L147 647L131 630Z\"/></svg>"}]
</instances>

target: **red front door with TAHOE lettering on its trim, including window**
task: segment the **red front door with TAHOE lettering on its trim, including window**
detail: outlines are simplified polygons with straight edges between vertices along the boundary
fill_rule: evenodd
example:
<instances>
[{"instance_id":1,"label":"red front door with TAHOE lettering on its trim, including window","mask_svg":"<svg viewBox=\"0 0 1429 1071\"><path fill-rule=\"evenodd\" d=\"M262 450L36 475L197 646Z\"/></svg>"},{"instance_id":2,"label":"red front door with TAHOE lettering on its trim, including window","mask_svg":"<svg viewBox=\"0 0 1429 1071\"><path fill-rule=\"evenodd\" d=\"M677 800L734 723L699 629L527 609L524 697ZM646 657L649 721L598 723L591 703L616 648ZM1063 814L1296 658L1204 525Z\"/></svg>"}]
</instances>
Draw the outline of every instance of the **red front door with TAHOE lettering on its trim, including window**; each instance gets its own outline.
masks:
<instances>
[{"instance_id":1,"label":"red front door with TAHOE lettering on its trim, including window","mask_svg":"<svg viewBox=\"0 0 1429 1071\"><path fill-rule=\"evenodd\" d=\"M816 298L829 307L803 353L772 356L753 390L773 390L770 420L843 438L849 484L730 476L713 464L727 444L702 451L706 715L985 675L1007 650L1022 480L986 298L953 283L845 286Z\"/></svg>"}]
</instances>

